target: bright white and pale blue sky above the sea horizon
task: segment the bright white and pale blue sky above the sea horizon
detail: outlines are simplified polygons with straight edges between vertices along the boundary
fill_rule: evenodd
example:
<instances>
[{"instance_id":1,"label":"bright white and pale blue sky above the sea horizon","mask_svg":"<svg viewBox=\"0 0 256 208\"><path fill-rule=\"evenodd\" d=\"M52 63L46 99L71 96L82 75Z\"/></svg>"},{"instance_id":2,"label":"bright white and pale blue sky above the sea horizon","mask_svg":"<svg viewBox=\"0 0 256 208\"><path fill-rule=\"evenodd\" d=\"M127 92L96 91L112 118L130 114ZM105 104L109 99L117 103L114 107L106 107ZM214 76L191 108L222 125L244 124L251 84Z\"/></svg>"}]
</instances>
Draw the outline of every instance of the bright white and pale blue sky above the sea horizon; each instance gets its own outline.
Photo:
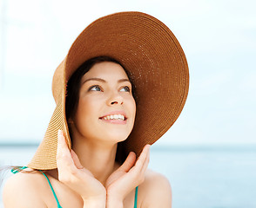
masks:
<instances>
[{"instance_id":1,"label":"bright white and pale blue sky above the sea horizon","mask_svg":"<svg viewBox=\"0 0 256 208\"><path fill-rule=\"evenodd\" d=\"M98 17L137 10L178 38L190 68L179 119L159 145L256 145L255 1L0 1L0 143L39 142L55 103L51 79Z\"/></svg>"}]
</instances>

